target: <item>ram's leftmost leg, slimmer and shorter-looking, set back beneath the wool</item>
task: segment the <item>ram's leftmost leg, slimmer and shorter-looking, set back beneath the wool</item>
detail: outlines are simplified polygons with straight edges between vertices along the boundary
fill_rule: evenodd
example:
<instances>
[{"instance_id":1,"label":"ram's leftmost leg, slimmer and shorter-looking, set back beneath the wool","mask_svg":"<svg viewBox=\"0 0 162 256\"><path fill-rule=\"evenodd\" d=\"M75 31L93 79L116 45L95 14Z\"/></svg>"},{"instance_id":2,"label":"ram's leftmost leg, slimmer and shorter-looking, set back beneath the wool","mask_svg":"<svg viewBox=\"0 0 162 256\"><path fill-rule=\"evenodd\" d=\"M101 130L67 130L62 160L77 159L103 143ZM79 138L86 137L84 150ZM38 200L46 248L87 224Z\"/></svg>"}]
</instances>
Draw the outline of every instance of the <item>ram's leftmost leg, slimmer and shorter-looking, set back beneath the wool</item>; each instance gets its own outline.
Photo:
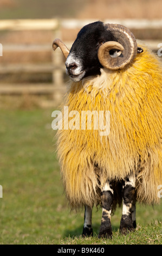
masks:
<instances>
[{"instance_id":1,"label":"ram's leftmost leg, slimmer and shorter-looking, set back beneath the wool","mask_svg":"<svg viewBox=\"0 0 162 256\"><path fill-rule=\"evenodd\" d=\"M83 225L82 236L93 236L92 209L88 205L85 206L85 222Z\"/></svg>"}]
</instances>

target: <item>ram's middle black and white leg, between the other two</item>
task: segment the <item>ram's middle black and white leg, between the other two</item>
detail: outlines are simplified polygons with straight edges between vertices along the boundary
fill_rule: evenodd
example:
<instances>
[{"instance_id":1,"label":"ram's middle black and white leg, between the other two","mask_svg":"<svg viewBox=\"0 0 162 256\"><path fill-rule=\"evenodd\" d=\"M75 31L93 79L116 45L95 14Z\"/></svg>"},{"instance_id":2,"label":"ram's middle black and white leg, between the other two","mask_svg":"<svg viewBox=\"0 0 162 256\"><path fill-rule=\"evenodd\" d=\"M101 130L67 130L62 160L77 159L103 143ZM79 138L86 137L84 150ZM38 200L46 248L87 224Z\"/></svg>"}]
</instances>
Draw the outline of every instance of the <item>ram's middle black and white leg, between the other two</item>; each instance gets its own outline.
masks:
<instances>
[{"instance_id":1,"label":"ram's middle black and white leg, between the other two","mask_svg":"<svg viewBox=\"0 0 162 256\"><path fill-rule=\"evenodd\" d=\"M111 182L107 181L101 191L102 220L100 225L100 237L112 238L111 213L113 204L113 189Z\"/></svg>"}]
</instances>

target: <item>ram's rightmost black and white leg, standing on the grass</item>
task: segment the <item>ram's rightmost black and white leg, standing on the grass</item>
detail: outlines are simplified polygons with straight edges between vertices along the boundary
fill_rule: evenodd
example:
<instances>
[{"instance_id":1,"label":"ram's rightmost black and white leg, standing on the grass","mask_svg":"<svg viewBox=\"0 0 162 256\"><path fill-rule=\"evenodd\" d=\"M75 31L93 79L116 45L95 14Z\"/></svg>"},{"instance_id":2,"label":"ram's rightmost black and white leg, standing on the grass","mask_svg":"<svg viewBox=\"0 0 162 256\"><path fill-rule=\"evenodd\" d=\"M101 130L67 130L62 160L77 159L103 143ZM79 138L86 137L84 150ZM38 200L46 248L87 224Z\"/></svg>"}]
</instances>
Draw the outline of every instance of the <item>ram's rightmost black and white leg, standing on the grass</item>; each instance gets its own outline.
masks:
<instances>
[{"instance_id":1,"label":"ram's rightmost black and white leg, standing on the grass","mask_svg":"<svg viewBox=\"0 0 162 256\"><path fill-rule=\"evenodd\" d=\"M126 235L129 231L134 231L133 221L135 221L135 175L131 174L126 178L122 187L122 217L120 221L120 232ZM135 224L135 222L134 222Z\"/></svg>"}]
</instances>

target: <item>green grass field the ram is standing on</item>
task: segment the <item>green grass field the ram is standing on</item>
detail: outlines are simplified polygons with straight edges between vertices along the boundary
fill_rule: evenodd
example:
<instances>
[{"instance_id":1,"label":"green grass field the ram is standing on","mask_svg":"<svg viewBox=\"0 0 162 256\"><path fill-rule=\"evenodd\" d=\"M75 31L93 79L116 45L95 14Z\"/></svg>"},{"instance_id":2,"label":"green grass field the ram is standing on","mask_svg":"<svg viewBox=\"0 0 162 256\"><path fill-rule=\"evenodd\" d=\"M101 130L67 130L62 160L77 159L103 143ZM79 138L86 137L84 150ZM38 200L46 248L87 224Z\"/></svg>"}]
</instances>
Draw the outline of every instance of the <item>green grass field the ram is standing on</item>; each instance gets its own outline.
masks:
<instances>
[{"instance_id":1,"label":"green grass field the ram is standing on","mask_svg":"<svg viewBox=\"0 0 162 256\"><path fill-rule=\"evenodd\" d=\"M54 109L0 112L0 244L159 244L159 206L137 206L138 227L119 234L121 209L112 217L113 239L98 239L101 209L93 209L94 237L83 239L83 211L70 212L63 193L51 129Z\"/></svg>"}]
</instances>

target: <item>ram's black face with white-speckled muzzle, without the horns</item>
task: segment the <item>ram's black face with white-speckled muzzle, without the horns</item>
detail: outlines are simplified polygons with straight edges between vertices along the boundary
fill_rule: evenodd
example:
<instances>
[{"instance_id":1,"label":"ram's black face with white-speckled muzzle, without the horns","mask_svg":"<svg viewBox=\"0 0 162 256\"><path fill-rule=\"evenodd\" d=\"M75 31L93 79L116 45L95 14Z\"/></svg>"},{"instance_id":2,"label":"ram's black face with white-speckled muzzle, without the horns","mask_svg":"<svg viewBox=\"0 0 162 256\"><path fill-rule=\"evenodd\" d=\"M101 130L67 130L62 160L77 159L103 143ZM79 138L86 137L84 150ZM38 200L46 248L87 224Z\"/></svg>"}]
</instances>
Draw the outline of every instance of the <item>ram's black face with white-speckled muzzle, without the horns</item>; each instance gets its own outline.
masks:
<instances>
[{"instance_id":1,"label":"ram's black face with white-speckled muzzle, without the horns","mask_svg":"<svg viewBox=\"0 0 162 256\"><path fill-rule=\"evenodd\" d=\"M102 65L98 60L101 44L112 41L113 35L106 31L102 22L90 23L81 29L66 60L66 73L75 81L88 76L100 75Z\"/></svg>"}]
</instances>

